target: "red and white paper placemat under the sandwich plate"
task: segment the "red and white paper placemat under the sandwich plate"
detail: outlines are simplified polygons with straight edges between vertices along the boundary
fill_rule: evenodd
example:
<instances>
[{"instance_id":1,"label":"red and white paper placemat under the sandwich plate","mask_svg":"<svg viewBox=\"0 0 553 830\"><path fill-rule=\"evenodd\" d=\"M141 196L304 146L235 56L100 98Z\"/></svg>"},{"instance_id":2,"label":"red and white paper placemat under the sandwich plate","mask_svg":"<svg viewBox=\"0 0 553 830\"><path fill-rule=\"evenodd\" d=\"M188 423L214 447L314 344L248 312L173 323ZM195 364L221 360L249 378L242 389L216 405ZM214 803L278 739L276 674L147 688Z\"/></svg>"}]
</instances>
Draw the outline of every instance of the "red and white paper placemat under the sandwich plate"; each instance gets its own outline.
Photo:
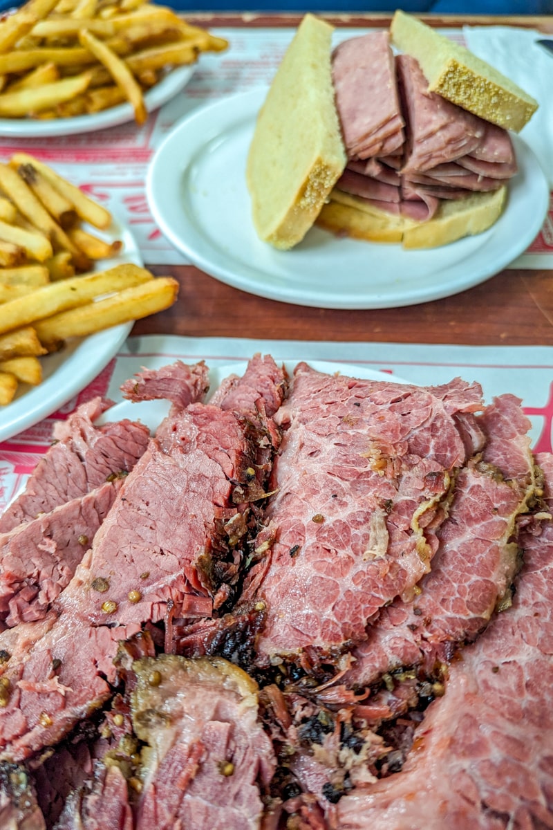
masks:
<instances>
[{"instance_id":1,"label":"red and white paper placemat under the sandwich plate","mask_svg":"<svg viewBox=\"0 0 553 830\"><path fill-rule=\"evenodd\" d=\"M201 55L187 87L163 105L161 110L150 115L143 127L129 122L119 127L62 138L0 138L0 159L7 159L12 153L25 150L54 164L62 175L85 188L115 212L122 222L129 225L137 238L146 264L187 264L183 256L163 238L149 212L145 194L148 163L167 132L193 108L209 100L244 92L255 86L268 85L293 37L294 30L214 28L212 31L229 41L229 49L217 55ZM475 31L477 30L471 30ZM469 37L475 37L471 32L468 33L467 40ZM336 39L344 40L360 33L360 29L339 29ZM460 29L444 30L444 33L455 40L463 40L463 32ZM481 48L482 38L485 41L485 37L484 31L478 41ZM491 46L492 41L490 48ZM492 54L487 54L487 58L492 61ZM550 77L551 73L547 78ZM521 83L520 78L515 80ZM553 85L550 86L553 90ZM549 94L553 95L551 91ZM547 102L542 104L542 108L547 108ZM526 138L524 133L523 138ZM553 158L550 183L553 183ZM513 230L516 232L516 229ZM536 241L512 267L553 267L553 203Z\"/></svg>"}]
</instances>

